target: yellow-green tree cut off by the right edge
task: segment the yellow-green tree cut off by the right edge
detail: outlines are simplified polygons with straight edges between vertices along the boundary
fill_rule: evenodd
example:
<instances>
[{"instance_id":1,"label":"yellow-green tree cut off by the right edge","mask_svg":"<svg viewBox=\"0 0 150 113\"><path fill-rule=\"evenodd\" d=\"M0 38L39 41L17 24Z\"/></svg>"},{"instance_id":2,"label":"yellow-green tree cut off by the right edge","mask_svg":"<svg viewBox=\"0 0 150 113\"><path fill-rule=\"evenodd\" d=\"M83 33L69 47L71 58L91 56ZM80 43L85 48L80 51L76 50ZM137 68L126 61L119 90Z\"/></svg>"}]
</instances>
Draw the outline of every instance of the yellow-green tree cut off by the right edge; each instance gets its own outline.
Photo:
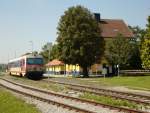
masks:
<instances>
[{"instance_id":1,"label":"yellow-green tree cut off by the right edge","mask_svg":"<svg viewBox=\"0 0 150 113\"><path fill-rule=\"evenodd\" d=\"M150 16L147 20L145 39L141 47L142 67L144 69L150 69Z\"/></svg>"}]
</instances>

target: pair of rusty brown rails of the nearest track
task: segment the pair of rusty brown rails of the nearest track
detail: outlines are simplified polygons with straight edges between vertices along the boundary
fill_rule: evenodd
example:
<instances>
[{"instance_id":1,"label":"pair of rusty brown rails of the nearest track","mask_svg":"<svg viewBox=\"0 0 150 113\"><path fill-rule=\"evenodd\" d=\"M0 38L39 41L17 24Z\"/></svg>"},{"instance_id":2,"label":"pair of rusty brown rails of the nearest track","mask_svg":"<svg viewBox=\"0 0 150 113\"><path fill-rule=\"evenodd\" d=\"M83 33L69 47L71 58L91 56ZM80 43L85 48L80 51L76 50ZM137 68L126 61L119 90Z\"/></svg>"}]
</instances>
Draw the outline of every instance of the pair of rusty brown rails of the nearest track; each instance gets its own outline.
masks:
<instances>
[{"instance_id":1,"label":"pair of rusty brown rails of the nearest track","mask_svg":"<svg viewBox=\"0 0 150 113\"><path fill-rule=\"evenodd\" d=\"M45 90L41 90L41 89L38 89L38 88L33 88L33 87L26 86L26 85L18 84L18 83L15 83L15 82L12 82L10 80L3 79L3 78L0 78L0 79L5 80L5 81L10 82L10 83L15 84L15 85L19 85L19 86L27 88L27 89L39 91L39 92L50 94L50 95L55 95L55 96L62 97L62 98L67 98L67 99L72 99L72 100L76 100L76 101L80 101L80 102L90 103L90 104L93 104L95 106L106 107L106 108L109 108L109 109L112 109L112 110L123 111L123 112L127 112L127 113L147 113L145 111L133 110L133 109L123 108L123 107L116 107L116 106L102 104L102 103L98 103L98 102L94 102L94 101L90 101L90 100L86 100L86 99L79 99L79 98L70 97L70 96L66 96L66 95L62 95L62 94L57 94L57 93L53 93L53 92L50 92L50 91L45 91ZM2 85L2 86L4 86L4 85ZM4 86L4 87L6 87L10 90L13 90L15 92L22 93L20 91L17 91L16 89L11 89L7 86ZM28 94L28 93L23 93L23 94L27 95L27 96L35 97L35 96L33 96L31 94ZM39 97L35 97L35 98L39 98ZM44 98L43 99L39 98L39 100L43 100L43 101L48 102L48 103L56 104L56 105L59 105L59 106L62 106L62 107L66 107L66 108L73 109L73 110L76 110L76 111L81 111L81 112L84 112L84 113L94 113L94 112L91 112L91 111L88 111L88 110L77 108L75 106L69 106L69 105L66 105L66 104L63 104L63 103L54 102L54 101L47 100L47 99L44 99Z\"/></svg>"}]
</instances>

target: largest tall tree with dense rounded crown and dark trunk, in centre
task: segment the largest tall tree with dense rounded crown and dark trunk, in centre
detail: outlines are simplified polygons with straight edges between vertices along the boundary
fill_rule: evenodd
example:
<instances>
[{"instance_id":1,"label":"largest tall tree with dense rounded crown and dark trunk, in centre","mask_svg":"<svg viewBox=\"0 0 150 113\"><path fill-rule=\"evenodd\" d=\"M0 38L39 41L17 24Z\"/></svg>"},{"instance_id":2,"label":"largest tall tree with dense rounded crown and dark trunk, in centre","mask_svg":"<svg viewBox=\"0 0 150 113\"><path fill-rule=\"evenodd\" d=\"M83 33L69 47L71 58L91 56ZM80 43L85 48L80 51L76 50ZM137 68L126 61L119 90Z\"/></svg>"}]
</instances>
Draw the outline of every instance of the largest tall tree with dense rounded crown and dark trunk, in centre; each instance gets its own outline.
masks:
<instances>
[{"instance_id":1,"label":"largest tall tree with dense rounded crown and dark trunk, in centre","mask_svg":"<svg viewBox=\"0 0 150 113\"><path fill-rule=\"evenodd\" d=\"M104 51L99 23L82 6L65 11L59 21L57 42L60 59L67 64L79 64L84 77L88 77L88 67L100 60Z\"/></svg>"}]
</instances>

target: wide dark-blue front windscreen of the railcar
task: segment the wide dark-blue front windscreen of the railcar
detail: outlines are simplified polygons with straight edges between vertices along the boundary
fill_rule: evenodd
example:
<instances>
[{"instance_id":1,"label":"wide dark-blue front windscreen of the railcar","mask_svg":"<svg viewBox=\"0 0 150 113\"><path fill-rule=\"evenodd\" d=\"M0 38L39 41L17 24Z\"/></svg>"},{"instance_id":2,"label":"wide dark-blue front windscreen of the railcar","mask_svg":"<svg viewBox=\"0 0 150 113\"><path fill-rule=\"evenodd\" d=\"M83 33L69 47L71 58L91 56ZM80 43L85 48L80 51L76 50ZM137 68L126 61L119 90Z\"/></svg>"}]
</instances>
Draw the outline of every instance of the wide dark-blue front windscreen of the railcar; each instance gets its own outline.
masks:
<instances>
[{"instance_id":1,"label":"wide dark-blue front windscreen of the railcar","mask_svg":"<svg viewBox=\"0 0 150 113\"><path fill-rule=\"evenodd\" d=\"M40 64L43 64L43 59L42 58L28 58L27 64L29 64L29 65L40 65Z\"/></svg>"}]
</instances>

